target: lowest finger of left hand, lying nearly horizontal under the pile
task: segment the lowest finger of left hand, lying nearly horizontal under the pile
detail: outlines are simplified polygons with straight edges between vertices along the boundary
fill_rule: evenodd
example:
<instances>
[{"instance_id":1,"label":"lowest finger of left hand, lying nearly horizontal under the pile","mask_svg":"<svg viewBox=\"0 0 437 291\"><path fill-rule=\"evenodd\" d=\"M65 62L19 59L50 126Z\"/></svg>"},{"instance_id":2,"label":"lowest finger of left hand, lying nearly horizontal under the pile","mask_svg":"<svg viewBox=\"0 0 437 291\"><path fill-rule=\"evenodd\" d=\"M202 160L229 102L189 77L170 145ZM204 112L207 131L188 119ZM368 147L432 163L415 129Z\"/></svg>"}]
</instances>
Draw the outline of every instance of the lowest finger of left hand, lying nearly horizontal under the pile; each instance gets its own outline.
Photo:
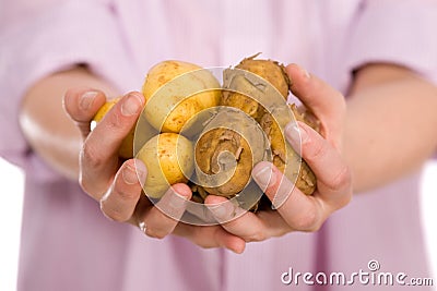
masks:
<instances>
[{"instance_id":1,"label":"lowest finger of left hand, lying nearly horizontal under the pile","mask_svg":"<svg viewBox=\"0 0 437 291\"><path fill-rule=\"evenodd\" d=\"M227 232L221 226L178 223L174 233L204 248L225 247L236 254L241 254L246 247L244 239Z\"/></svg>"}]
</instances>

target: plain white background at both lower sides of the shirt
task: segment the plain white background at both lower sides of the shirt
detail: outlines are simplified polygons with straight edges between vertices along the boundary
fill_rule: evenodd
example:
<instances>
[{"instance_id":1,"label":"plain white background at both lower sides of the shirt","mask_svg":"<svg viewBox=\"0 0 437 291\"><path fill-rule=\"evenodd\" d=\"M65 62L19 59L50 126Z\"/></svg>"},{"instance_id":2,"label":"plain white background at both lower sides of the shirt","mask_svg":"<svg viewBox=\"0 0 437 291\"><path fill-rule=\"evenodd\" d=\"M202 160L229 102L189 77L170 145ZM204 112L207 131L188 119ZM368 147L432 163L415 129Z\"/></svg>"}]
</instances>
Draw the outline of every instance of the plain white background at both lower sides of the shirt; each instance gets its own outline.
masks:
<instances>
[{"instance_id":1,"label":"plain white background at both lower sides of the shirt","mask_svg":"<svg viewBox=\"0 0 437 291\"><path fill-rule=\"evenodd\" d=\"M428 252L434 274L437 274L437 162L427 165L422 192ZM17 168L1 158L0 193L0 290L13 291L16 289L23 175ZM436 284L437 276L434 276Z\"/></svg>"}]
</instances>

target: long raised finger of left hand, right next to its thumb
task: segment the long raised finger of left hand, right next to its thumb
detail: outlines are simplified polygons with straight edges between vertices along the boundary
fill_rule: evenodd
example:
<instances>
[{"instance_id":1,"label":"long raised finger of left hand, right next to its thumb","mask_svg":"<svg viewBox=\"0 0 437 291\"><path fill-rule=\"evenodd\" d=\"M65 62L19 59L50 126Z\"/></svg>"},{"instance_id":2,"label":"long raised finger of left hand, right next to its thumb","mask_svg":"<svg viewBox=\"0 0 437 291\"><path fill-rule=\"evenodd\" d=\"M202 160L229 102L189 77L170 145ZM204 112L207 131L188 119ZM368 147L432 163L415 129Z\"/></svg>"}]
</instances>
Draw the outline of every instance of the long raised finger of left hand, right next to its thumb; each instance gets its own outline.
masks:
<instances>
[{"instance_id":1,"label":"long raised finger of left hand, right next to its thumb","mask_svg":"<svg viewBox=\"0 0 437 291\"><path fill-rule=\"evenodd\" d=\"M140 93L130 93L109 110L85 140L81 151L80 182L96 198L106 192L119 165L118 150L143 108Z\"/></svg>"}]
</instances>

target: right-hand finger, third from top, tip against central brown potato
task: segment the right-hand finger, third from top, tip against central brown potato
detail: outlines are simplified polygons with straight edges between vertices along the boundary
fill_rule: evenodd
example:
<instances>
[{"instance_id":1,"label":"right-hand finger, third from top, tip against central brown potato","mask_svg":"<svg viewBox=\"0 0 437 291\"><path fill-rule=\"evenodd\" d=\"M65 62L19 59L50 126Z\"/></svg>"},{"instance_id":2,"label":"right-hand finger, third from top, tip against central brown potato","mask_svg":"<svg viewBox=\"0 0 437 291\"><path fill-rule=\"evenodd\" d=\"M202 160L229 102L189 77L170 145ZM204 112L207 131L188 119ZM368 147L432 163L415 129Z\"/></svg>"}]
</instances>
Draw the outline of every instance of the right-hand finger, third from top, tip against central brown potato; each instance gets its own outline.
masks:
<instances>
[{"instance_id":1,"label":"right-hand finger, third from top, tip against central brown potato","mask_svg":"<svg viewBox=\"0 0 437 291\"><path fill-rule=\"evenodd\" d=\"M328 216L320 199L304 194L274 165L259 162L252 177L291 229L315 231Z\"/></svg>"}]
</instances>

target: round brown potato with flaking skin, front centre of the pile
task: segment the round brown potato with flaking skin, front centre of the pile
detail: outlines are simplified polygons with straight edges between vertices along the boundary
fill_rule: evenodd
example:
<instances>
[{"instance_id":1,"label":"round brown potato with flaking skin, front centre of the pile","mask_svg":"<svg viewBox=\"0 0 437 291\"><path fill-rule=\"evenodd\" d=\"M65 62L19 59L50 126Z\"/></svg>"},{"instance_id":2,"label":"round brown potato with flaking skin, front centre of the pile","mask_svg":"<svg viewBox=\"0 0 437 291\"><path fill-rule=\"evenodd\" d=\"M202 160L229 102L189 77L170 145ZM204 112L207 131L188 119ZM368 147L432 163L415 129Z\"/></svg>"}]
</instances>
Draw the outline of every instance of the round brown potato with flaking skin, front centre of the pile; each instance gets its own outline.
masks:
<instances>
[{"instance_id":1,"label":"round brown potato with flaking skin, front centre of the pile","mask_svg":"<svg viewBox=\"0 0 437 291\"><path fill-rule=\"evenodd\" d=\"M222 108L197 142L197 178L208 193L232 197L250 182L251 169L269 149L257 121L240 110Z\"/></svg>"}]
</instances>

